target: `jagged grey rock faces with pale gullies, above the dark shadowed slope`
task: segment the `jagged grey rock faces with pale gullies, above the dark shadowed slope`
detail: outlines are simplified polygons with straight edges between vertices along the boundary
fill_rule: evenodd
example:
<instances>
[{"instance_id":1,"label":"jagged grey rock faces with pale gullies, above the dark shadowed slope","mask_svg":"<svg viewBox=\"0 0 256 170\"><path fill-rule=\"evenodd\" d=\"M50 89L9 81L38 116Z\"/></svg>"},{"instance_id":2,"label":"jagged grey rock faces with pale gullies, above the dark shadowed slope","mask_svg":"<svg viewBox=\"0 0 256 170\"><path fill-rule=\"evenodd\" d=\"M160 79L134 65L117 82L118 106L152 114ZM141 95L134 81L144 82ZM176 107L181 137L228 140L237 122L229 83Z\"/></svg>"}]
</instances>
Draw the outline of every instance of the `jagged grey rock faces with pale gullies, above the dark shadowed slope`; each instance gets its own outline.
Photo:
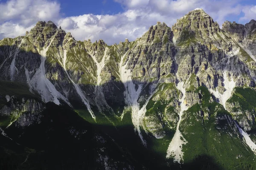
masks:
<instances>
[{"instance_id":1,"label":"jagged grey rock faces with pale gullies, above the dark shadowed slope","mask_svg":"<svg viewBox=\"0 0 256 170\"><path fill-rule=\"evenodd\" d=\"M40 21L26 36L0 41L0 80L26 83L41 101L10 97L0 115L17 126L39 124L44 103L54 102L102 125L129 117L144 146L148 136L162 140L167 158L179 163L195 156L192 134L219 142L228 133L223 139L234 138L236 149L255 153L254 133L246 133L255 128L255 99L248 95L255 93L255 24L226 21L221 29L197 8L172 28L158 22L134 42L107 45L76 41ZM220 149L198 144L200 154Z\"/></svg>"}]
</instances>

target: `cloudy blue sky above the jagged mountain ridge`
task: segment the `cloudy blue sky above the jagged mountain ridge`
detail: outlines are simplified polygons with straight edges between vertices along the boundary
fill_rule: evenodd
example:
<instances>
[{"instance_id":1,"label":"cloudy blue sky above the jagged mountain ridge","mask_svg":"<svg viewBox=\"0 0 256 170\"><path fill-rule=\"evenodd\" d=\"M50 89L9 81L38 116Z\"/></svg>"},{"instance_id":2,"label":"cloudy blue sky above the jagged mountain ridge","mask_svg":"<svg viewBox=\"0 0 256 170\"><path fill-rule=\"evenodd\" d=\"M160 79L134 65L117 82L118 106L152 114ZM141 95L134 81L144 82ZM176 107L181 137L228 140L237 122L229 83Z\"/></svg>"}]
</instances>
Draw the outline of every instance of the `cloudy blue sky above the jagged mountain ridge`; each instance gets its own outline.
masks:
<instances>
[{"instance_id":1,"label":"cloudy blue sky above the jagged mountain ridge","mask_svg":"<svg viewBox=\"0 0 256 170\"><path fill-rule=\"evenodd\" d=\"M111 45L141 37L157 21L172 27L195 8L203 8L220 27L226 20L256 20L256 0L0 0L0 39L52 20L76 40Z\"/></svg>"}]
</instances>

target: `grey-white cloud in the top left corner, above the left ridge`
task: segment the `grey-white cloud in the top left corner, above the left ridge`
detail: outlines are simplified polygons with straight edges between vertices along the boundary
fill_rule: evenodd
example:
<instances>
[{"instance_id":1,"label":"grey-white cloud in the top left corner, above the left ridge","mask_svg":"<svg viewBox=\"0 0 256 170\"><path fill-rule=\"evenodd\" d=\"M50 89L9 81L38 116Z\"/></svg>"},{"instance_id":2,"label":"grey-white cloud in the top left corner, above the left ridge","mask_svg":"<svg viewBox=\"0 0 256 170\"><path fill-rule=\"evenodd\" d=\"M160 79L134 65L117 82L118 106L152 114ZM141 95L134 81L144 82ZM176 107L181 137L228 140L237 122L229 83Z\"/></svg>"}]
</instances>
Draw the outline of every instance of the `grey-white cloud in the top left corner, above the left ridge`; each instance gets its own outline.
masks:
<instances>
[{"instance_id":1,"label":"grey-white cloud in the top left corner, above the left ridge","mask_svg":"<svg viewBox=\"0 0 256 170\"><path fill-rule=\"evenodd\" d=\"M40 20L57 22L60 4L48 0L9 0L0 3L0 39L24 35Z\"/></svg>"}]
</instances>

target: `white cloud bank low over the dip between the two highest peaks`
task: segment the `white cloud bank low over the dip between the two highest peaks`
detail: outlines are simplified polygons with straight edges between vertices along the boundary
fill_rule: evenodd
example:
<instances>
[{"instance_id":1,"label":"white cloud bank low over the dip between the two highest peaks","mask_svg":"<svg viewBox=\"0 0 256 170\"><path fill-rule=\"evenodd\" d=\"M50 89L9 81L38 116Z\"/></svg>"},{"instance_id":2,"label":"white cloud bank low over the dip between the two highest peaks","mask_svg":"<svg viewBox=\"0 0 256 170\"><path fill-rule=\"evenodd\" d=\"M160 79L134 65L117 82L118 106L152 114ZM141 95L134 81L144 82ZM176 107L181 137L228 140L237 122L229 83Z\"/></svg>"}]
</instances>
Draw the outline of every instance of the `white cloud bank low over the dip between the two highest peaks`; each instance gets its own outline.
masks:
<instances>
[{"instance_id":1,"label":"white cloud bank low over the dip between the two highest peaks","mask_svg":"<svg viewBox=\"0 0 256 170\"><path fill-rule=\"evenodd\" d=\"M66 24L66 20L72 20L74 23ZM103 39L108 44L124 41L125 38L135 40L147 30L145 26L137 26L136 19L131 17L129 11L116 15L84 14L78 17L67 17L61 19L58 25L71 32L78 40Z\"/></svg>"}]
</instances>

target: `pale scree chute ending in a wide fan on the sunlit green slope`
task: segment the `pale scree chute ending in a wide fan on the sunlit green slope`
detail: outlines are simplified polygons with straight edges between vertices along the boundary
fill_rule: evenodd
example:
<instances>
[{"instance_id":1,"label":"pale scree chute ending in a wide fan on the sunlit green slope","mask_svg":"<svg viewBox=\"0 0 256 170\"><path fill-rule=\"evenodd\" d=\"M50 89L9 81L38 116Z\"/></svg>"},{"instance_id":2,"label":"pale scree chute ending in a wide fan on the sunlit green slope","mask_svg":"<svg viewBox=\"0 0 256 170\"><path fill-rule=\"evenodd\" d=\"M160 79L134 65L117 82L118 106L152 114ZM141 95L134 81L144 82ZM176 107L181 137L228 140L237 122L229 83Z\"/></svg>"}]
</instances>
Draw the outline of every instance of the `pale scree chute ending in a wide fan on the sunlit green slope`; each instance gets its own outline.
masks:
<instances>
[{"instance_id":1,"label":"pale scree chute ending in a wide fan on the sunlit green slope","mask_svg":"<svg viewBox=\"0 0 256 170\"><path fill-rule=\"evenodd\" d=\"M180 113L179 113L179 121L177 123L176 132L172 138L171 143L169 144L166 158L173 157L174 161L177 161L180 163L180 160L183 158L183 152L182 152L182 145L186 144L186 140L180 133L179 127L180 127L180 121L182 118L183 111L186 111L188 107L184 104L184 99L186 96L186 90L183 88L184 82L179 82L177 84L177 89L180 90L183 94L182 98L179 99L180 101Z\"/></svg>"}]
</instances>

